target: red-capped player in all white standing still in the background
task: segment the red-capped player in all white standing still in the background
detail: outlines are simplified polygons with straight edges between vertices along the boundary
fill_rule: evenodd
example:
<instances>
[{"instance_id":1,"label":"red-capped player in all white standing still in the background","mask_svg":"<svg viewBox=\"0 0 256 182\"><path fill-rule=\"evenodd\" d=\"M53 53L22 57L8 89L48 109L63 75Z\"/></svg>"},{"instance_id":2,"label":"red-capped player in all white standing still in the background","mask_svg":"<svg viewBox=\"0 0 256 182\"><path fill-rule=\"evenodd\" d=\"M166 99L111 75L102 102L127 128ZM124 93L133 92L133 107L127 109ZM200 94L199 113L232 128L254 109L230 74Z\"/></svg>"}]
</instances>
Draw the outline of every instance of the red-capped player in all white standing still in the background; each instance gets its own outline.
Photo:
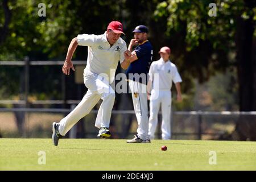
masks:
<instances>
[{"instance_id":1,"label":"red-capped player in all white standing still in the background","mask_svg":"<svg viewBox=\"0 0 256 182\"><path fill-rule=\"evenodd\" d=\"M177 101L182 101L180 82L181 77L175 64L171 63L170 55L171 49L169 47L162 47L159 51L160 60L152 62L148 75L150 76L148 82L148 96L150 97L150 118L148 135L150 139L155 137L155 129L158 123L158 111L162 105L162 139L171 139L171 87L172 81L175 83L177 90ZM158 84L154 82L154 74L158 74ZM158 87L158 88L157 88ZM158 90L156 90L158 89ZM158 98L155 94L158 93ZM156 96L157 97L157 96Z\"/></svg>"}]
</instances>

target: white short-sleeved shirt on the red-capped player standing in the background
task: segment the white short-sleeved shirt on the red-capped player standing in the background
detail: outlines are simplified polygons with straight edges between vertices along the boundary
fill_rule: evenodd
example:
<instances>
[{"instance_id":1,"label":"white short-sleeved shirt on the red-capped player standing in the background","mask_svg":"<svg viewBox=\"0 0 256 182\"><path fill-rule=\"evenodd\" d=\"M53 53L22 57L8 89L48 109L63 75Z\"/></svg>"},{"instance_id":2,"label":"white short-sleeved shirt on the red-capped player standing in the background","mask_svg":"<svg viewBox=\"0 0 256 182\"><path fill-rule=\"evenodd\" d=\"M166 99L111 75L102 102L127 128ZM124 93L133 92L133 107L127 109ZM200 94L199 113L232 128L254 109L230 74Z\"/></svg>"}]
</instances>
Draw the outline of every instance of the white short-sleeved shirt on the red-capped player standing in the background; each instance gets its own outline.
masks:
<instances>
[{"instance_id":1,"label":"white short-sleeved shirt on the red-capped player standing in the background","mask_svg":"<svg viewBox=\"0 0 256 182\"><path fill-rule=\"evenodd\" d=\"M161 58L158 61L153 61L148 72L150 80L152 80L153 82L156 81L154 80L154 74L159 75L159 90L171 90L172 81L174 83L182 82L176 65L171 63L170 60L164 62L164 60ZM156 85L158 84L152 84L152 89L158 89L154 88L154 86Z\"/></svg>"}]
</instances>

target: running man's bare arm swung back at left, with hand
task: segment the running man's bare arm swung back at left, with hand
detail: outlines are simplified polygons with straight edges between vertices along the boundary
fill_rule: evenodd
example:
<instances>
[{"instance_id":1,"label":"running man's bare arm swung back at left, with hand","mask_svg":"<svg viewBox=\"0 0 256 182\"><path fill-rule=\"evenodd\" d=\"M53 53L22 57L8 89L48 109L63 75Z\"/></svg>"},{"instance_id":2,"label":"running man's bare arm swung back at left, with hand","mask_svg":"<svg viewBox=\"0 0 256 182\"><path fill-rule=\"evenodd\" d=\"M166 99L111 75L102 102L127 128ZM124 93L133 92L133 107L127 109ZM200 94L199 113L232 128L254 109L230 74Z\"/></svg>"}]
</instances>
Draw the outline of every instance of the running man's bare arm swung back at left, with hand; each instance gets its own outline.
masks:
<instances>
[{"instance_id":1,"label":"running man's bare arm swung back at left, with hand","mask_svg":"<svg viewBox=\"0 0 256 182\"><path fill-rule=\"evenodd\" d=\"M69 75L70 68L73 71L75 71L75 68L73 66L73 63L72 63L71 59L72 59L73 53L75 52L77 46L78 46L77 38L73 38L71 43L69 44L66 60L65 60L64 65L62 67L62 72L65 75Z\"/></svg>"}]
</instances>

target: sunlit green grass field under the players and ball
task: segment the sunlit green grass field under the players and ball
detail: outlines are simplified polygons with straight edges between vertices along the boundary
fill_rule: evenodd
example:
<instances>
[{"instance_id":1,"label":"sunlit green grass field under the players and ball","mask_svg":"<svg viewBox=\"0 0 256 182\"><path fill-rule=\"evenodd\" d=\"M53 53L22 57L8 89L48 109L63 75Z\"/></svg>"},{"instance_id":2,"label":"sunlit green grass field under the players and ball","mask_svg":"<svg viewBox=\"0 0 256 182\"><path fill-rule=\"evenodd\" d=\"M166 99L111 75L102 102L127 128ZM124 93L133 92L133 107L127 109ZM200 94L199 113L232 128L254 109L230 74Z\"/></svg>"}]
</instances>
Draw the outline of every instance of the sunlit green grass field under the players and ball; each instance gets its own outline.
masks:
<instances>
[{"instance_id":1,"label":"sunlit green grass field under the players and ball","mask_svg":"<svg viewBox=\"0 0 256 182\"><path fill-rule=\"evenodd\" d=\"M167 151L160 147L166 145ZM46 154L46 164L39 151ZM217 164L209 164L216 151ZM256 170L256 142L212 140L0 139L1 170Z\"/></svg>"}]
</instances>

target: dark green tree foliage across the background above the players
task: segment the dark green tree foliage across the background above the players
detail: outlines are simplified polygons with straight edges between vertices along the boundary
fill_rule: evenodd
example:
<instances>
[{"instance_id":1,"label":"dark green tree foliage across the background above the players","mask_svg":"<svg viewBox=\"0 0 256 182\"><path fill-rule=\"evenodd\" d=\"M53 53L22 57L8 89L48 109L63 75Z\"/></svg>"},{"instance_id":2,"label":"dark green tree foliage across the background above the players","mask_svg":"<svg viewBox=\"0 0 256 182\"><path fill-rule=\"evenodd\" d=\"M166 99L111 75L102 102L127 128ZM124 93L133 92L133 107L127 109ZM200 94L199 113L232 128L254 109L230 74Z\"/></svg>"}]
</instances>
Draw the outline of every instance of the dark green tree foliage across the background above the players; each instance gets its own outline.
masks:
<instances>
[{"instance_id":1,"label":"dark green tree foliage across the background above the players","mask_svg":"<svg viewBox=\"0 0 256 182\"><path fill-rule=\"evenodd\" d=\"M254 16L255 7L250 9L246 1L229 0L215 1L217 16L209 16L209 0L168 0L168 1L68 1L46 0L46 17L39 17L39 0L1 1L0 8L1 34L0 60L23 60L29 56L31 60L64 60L71 39L77 34L102 34L111 20L123 22L126 36L123 39L129 43L133 37L131 31L138 24L146 24L149 29L149 39L154 47L153 60L159 59L158 51L162 46L172 49L171 60L179 68L183 77L184 93L193 92L193 79L207 81L218 71L237 67L237 17L248 19ZM255 2L255 1L250 1ZM7 13L6 13L7 12ZM9 13L8 13L9 12ZM7 17L8 16L8 17ZM255 37L255 32L254 32ZM85 60L86 48L78 47L73 59ZM14 73L1 69L2 85L8 85L9 80L15 80ZM15 68L14 68L15 69ZM32 92L60 93L60 68L41 67L31 70L31 78L44 80L45 86L31 81ZM48 76L44 73L48 72ZM51 75L51 76L50 76ZM7 79L9 78L9 79ZM72 76L67 82L72 83ZM11 86L10 94L16 94L19 84ZM56 97L56 94L52 96Z\"/></svg>"}]
</instances>

